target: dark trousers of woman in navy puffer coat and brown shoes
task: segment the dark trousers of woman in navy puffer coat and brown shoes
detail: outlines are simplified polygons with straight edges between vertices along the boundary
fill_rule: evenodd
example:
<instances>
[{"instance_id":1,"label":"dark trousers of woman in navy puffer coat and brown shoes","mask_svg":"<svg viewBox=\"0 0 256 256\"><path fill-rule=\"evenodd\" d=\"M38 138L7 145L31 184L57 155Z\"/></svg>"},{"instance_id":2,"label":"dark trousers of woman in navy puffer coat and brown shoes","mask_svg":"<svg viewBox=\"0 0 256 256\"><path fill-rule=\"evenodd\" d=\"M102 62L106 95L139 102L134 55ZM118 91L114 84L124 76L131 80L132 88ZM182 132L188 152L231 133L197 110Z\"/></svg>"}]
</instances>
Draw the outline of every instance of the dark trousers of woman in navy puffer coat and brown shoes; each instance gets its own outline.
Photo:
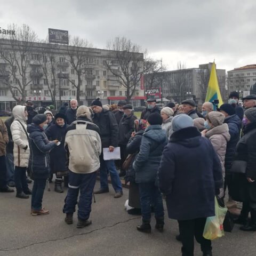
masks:
<instances>
[{"instance_id":1,"label":"dark trousers of woman in navy puffer coat and brown shoes","mask_svg":"<svg viewBox=\"0 0 256 256\"><path fill-rule=\"evenodd\" d=\"M46 179L35 179L31 196L31 209L39 211L42 209L42 201Z\"/></svg>"}]
</instances>

